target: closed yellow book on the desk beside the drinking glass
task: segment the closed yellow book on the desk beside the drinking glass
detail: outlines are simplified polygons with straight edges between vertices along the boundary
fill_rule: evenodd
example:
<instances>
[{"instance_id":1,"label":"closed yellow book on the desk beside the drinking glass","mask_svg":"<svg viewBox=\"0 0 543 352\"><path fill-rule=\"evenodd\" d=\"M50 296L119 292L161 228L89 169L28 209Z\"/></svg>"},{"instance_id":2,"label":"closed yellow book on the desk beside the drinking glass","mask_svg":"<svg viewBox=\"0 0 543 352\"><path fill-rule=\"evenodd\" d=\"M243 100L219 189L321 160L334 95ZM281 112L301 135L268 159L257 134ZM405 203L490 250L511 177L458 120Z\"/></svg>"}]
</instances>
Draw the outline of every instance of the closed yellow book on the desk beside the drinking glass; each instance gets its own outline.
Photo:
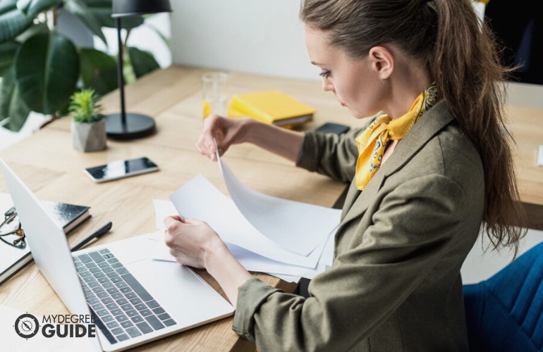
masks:
<instances>
[{"instance_id":1,"label":"closed yellow book on the desk beside the drinking glass","mask_svg":"<svg viewBox=\"0 0 543 352\"><path fill-rule=\"evenodd\" d=\"M313 118L315 109L281 91L268 90L232 96L228 116L248 116L282 127L292 127Z\"/></svg>"}]
</instances>

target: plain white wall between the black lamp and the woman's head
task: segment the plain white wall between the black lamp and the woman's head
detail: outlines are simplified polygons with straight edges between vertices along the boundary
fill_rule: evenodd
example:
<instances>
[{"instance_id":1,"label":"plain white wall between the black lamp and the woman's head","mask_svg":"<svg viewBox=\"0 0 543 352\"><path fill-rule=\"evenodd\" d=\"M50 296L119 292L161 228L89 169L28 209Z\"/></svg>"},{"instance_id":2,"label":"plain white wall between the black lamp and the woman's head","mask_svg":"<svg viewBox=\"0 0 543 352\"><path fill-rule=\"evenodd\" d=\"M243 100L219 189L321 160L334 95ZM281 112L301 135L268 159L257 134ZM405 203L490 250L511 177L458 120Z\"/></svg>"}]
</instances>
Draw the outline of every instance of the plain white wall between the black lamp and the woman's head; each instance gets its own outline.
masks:
<instances>
[{"instance_id":1,"label":"plain white wall between the black lamp and the woman's head","mask_svg":"<svg viewBox=\"0 0 543 352\"><path fill-rule=\"evenodd\" d=\"M172 0L173 63L318 80L299 0Z\"/></svg>"}]
</instances>

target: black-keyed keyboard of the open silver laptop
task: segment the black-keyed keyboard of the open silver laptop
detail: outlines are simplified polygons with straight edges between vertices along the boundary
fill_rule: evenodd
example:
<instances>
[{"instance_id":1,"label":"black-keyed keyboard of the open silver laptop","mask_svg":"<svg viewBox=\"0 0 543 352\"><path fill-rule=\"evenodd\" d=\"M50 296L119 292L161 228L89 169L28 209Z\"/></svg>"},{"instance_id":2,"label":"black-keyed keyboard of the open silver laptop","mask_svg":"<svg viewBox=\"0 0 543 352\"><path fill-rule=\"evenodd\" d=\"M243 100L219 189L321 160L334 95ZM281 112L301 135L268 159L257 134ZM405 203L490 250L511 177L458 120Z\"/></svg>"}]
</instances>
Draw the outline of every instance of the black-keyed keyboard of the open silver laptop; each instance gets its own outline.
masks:
<instances>
[{"instance_id":1,"label":"black-keyed keyboard of the open silver laptop","mask_svg":"<svg viewBox=\"0 0 543 352\"><path fill-rule=\"evenodd\" d=\"M73 262L94 323L111 344L176 324L109 249Z\"/></svg>"}]
</instances>

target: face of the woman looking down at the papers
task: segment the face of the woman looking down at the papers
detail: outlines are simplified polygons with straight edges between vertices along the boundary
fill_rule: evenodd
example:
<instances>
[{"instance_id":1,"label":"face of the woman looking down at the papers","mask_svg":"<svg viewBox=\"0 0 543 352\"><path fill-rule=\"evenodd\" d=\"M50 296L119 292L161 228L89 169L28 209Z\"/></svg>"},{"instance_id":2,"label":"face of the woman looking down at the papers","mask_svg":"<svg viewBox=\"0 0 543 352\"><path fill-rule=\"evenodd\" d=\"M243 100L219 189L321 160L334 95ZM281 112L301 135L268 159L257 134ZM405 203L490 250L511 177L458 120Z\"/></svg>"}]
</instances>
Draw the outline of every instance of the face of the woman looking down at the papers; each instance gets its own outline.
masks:
<instances>
[{"instance_id":1,"label":"face of the woman looking down at the papers","mask_svg":"<svg viewBox=\"0 0 543 352\"><path fill-rule=\"evenodd\" d=\"M321 69L322 89L333 92L355 118L365 118L384 110L384 89L368 56L349 58L327 44L324 32L305 26L305 46L311 63Z\"/></svg>"}]
</instances>

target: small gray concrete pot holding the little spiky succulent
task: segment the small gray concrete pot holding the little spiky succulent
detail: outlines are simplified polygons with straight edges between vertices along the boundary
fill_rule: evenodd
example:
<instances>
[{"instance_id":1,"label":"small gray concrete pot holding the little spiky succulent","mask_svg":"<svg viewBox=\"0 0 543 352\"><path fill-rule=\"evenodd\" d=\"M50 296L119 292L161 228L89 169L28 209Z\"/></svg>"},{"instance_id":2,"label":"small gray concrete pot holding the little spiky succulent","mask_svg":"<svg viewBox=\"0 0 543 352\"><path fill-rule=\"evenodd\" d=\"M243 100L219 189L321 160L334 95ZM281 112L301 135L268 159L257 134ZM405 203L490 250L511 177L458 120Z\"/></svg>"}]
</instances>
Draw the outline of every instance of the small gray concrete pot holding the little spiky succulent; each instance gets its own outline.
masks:
<instances>
[{"instance_id":1,"label":"small gray concrete pot holding the little spiky succulent","mask_svg":"<svg viewBox=\"0 0 543 352\"><path fill-rule=\"evenodd\" d=\"M91 123L72 120L72 142L78 151L106 149L106 120Z\"/></svg>"}]
</instances>

